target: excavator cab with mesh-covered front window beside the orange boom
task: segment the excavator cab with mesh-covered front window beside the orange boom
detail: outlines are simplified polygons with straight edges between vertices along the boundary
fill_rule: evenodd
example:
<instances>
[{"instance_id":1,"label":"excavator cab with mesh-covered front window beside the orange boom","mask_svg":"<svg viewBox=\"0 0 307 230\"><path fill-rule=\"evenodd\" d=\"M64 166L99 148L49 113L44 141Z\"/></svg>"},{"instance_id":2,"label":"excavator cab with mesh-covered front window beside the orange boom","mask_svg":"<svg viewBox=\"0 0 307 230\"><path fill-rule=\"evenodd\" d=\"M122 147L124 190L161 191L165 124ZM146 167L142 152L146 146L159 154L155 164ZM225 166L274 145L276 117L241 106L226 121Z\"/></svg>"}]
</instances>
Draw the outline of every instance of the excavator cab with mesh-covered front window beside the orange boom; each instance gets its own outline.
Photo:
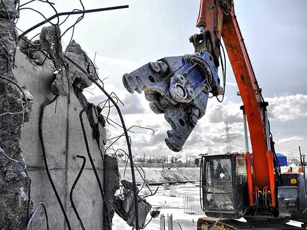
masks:
<instances>
[{"instance_id":1,"label":"excavator cab with mesh-covered front window beside the orange boom","mask_svg":"<svg viewBox=\"0 0 307 230\"><path fill-rule=\"evenodd\" d=\"M206 216L243 217L248 210L244 154L203 155L200 169L201 204Z\"/></svg>"}]
</instances>

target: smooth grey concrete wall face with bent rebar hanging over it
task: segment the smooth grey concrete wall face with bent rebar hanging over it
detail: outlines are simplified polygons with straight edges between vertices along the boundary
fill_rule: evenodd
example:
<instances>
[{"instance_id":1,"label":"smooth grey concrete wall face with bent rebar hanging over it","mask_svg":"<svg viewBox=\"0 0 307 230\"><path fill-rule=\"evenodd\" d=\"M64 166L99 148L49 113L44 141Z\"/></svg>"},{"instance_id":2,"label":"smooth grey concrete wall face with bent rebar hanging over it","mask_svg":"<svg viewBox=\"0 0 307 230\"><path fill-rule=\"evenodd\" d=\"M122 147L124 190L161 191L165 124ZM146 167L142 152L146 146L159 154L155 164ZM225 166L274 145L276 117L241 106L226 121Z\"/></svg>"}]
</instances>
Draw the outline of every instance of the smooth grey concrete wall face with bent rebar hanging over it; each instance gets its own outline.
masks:
<instances>
[{"instance_id":1,"label":"smooth grey concrete wall face with bent rebar hanging over it","mask_svg":"<svg viewBox=\"0 0 307 230\"><path fill-rule=\"evenodd\" d=\"M54 97L50 86L54 82L56 68L50 60L46 60L43 65L37 65L19 50L16 53L16 64L18 81L21 85L28 85L29 91L35 98L30 120L25 124L24 133L21 136L21 149L25 152L29 175L32 178L32 200L34 205L38 202L46 204L52 229L64 229L64 217L46 175L38 135L40 107ZM88 158L79 120L79 112L82 109L75 90L71 88L67 97L58 97L56 103L46 107L42 124L50 173L72 229L80 229L69 197L73 182L82 165L82 160L76 158L76 155ZM99 149L97 140L93 138L93 130L86 113L83 113L83 121L94 164L103 181L103 159L101 157L103 149ZM102 130L101 133L104 131ZM76 208L86 229L103 228L103 203L98 194L99 187L92 166L87 160L73 193ZM44 225L45 216L37 216L33 227L41 229Z\"/></svg>"}]
</instances>

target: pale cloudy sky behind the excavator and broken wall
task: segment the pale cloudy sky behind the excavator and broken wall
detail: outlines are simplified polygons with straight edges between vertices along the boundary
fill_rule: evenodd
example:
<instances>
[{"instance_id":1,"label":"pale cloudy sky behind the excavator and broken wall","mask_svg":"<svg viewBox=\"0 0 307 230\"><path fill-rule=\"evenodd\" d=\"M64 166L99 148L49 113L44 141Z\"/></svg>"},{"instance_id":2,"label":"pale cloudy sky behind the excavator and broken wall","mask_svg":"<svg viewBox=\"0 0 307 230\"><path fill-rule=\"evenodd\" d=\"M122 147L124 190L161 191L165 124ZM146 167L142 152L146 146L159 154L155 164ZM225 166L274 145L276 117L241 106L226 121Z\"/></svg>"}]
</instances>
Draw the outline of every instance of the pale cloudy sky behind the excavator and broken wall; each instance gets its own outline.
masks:
<instances>
[{"instance_id":1,"label":"pale cloudy sky behind the excavator and broken wall","mask_svg":"<svg viewBox=\"0 0 307 230\"><path fill-rule=\"evenodd\" d=\"M21 1L26 2L26 1ZM81 9L77 0L54 1L58 12ZM100 78L109 93L114 91L123 101L121 106L126 126L141 125L155 129L131 129L135 154L173 154L164 143L166 130L170 129L163 114L154 114L144 99L144 95L130 95L122 85L122 75L130 73L149 61L165 56L178 56L193 52L189 43L190 35L199 32L195 28L199 10L199 0L113 0L84 1L86 9L129 5L128 9L92 13L75 28L74 39L99 67ZM298 145L307 150L307 1L235 0L235 11L252 65L269 101L271 130L278 152L297 154ZM26 7L26 6L25 6ZM47 4L33 2L34 7L49 17L54 14ZM61 26L64 31L73 24L77 16L72 16ZM62 18L64 19L64 18ZM17 27L26 30L43 18L30 10L21 10ZM56 20L54 20L56 22ZM29 34L29 38L40 29ZM32 35L32 36L31 36ZM63 36L62 43L67 45L71 33ZM189 137L182 156L187 153L224 153L225 122L231 126L233 151L244 151L242 105L236 95L238 88L227 62L226 99L218 103L210 99L205 116ZM104 100L101 92L90 87L85 92L90 101L99 103ZM107 109L103 110L106 116ZM119 121L115 110L111 109L110 119ZM111 124L113 124L110 121ZM107 126L108 138L120 135L122 130ZM124 147L118 142L114 148Z\"/></svg>"}]
</instances>

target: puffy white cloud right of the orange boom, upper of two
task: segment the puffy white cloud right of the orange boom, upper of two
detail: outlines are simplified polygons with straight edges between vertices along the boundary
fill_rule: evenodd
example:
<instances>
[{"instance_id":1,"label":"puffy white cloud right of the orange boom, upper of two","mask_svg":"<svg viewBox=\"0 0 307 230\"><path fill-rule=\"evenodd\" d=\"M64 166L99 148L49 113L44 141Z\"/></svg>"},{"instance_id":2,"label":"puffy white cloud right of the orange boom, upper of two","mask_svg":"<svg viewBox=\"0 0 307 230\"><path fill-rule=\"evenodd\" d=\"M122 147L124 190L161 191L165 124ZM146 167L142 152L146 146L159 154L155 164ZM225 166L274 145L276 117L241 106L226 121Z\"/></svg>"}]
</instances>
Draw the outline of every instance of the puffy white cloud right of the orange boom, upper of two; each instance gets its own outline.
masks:
<instances>
[{"instance_id":1,"label":"puffy white cloud right of the orange boom, upper of two","mask_svg":"<svg viewBox=\"0 0 307 230\"><path fill-rule=\"evenodd\" d=\"M307 95L285 95L266 98L270 118L286 122L307 117Z\"/></svg>"}]
</instances>

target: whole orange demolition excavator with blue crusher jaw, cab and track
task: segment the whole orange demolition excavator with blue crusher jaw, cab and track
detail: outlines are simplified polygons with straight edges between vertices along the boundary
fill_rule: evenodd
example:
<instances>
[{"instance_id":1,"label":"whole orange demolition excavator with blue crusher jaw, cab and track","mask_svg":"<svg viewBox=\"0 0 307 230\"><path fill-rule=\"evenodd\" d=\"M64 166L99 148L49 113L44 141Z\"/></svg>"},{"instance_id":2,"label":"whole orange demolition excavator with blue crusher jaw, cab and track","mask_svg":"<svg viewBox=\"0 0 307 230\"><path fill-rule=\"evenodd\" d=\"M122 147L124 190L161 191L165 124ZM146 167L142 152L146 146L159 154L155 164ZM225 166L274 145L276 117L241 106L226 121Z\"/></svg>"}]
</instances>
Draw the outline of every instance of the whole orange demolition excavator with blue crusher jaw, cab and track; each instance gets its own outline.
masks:
<instances>
[{"instance_id":1,"label":"whole orange demolition excavator with blue crusher jaw, cab and track","mask_svg":"<svg viewBox=\"0 0 307 230\"><path fill-rule=\"evenodd\" d=\"M270 132L268 103L261 96L233 1L201 0L196 27L201 33L189 38L194 45L193 54L164 57L147 63L123 76L125 88L131 94L135 90L138 93L144 91L151 110L164 113L165 120L171 125L166 145L173 151L181 151L198 120L206 113L209 95L220 102L224 99L226 60L221 43L223 38L243 102L246 153L202 156L202 209L208 217L227 218L220 222L225 229L267 229L266 226L261 228L260 223L266 225L270 220L272 229L289 229L289 225L283 224L289 219L307 223L305 170L303 175L280 172ZM222 68L223 87L217 74L219 66ZM301 165L305 166L304 160ZM240 217L245 217L247 224L233 220ZM261 227L253 225L253 221ZM200 218L198 226L213 229L217 222ZM216 227L224 229L220 225ZM291 229L302 228L292 226Z\"/></svg>"}]
</instances>

